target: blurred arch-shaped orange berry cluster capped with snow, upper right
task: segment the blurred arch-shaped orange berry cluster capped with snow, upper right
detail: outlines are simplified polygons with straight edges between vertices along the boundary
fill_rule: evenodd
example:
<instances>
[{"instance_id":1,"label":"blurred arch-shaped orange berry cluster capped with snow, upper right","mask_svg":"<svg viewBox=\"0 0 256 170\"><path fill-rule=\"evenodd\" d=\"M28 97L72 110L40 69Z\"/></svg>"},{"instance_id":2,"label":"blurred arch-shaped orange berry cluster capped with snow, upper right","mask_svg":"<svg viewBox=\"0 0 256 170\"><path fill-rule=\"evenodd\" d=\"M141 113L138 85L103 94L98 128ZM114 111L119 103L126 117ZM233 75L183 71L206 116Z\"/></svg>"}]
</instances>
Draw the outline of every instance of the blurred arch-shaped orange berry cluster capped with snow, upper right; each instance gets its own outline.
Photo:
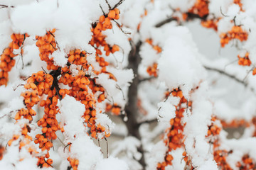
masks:
<instances>
[{"instance_id":1,"label":"blurred arch-shaped orange berry cluster capped with snow, upper right","mask_svg":"<svg viewBox=\"0 0 256 170\"><path fill-rule=\"evenodd\" d=\"M220 34L220 45L221 47L225 47L226 44L230 40L238 39L241 42L247 40L248 33L242 30L241 26L233 26L233 28L228 31L228 33L221 33Z\"/></svg>"}]
</instances>

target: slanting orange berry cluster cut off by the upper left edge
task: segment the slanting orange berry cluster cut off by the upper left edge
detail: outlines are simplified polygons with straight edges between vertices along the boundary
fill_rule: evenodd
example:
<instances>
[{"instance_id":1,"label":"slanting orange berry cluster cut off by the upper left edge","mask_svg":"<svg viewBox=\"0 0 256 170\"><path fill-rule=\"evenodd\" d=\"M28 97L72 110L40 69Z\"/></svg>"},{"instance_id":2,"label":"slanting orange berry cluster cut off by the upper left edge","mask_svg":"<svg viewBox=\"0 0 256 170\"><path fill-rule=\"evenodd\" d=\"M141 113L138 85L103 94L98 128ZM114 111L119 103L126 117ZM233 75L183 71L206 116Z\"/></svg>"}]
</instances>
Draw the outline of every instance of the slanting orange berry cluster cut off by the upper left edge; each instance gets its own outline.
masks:
<instances>
[{"instance_id":1,"label":"slanting orange berry cluster cut off by the upper left edge","mask_svg":"<svg viewBox=\"0 0 256 170\"><path fill-rule=\"evenodd\" d=\"M12 34L12 42L9 47L4 49L3 54L0 58L0 86L7 85L8 82L8 72L11 71L12 67L15 65L14 57L18 54L14 54L14 49L18 49L23 44L24 40L28 37L28 34ZM21 49L21 54L23 50Z\"/></svg>"}]
</instances>

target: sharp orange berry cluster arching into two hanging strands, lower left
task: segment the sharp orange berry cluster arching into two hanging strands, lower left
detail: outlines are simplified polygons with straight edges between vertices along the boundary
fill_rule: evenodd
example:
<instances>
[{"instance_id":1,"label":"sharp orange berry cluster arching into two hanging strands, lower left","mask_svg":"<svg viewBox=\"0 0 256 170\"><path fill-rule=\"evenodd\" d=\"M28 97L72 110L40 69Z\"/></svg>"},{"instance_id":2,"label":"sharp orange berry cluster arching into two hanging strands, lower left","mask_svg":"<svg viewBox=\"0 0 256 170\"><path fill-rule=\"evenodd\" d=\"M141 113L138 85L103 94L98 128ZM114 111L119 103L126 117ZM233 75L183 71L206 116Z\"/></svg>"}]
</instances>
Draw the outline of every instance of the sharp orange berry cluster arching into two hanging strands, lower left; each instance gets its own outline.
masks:
<instances>
[{"instance_id":1,"label":"sharp orange berry cluster arching into two hanging strands, lower left","mask_svg":"<svg viewBox=\"0 0 256 170\"><path fill-rule=\"evenodd\" d=\"M24 86L27 91L21 94L21 96L24 97L24 103L26 104L27 110L22 111L21 109L21 111L16 114L16 117L20 118L21 115L26 113L25 116L23 115L23 118L28 117L28 120L32 120L32 116L36 115L36 111L33 111L32 107L40 101L39 96L43 96L43 94L48 95L46 101L43 100L40 103L41 107L45 106L45 114L37 123L38 126L42 127L43 134L36 135L36 140L34 140L36 144L39 144L39 148L41 148L42 151L46 149L49 151L50 147L53 147L50 140L55 140L57 138L55 131L59 129L58 121L55 119L55 114L58 113L58 107L56 106L58 98L55 96L56 90L53 89L52 86L52 75L46 74L43 71L32 74L32 76L28 78L27 84ZM49 154L47 153L46 158L48 157ZM38 166L50 166L49 162L52 162L52 160L50 159L48 162L45 162L44 160L44 157L38 157ZM41 164L41 162L43 163Z\"/></svg>"}]
</instances>

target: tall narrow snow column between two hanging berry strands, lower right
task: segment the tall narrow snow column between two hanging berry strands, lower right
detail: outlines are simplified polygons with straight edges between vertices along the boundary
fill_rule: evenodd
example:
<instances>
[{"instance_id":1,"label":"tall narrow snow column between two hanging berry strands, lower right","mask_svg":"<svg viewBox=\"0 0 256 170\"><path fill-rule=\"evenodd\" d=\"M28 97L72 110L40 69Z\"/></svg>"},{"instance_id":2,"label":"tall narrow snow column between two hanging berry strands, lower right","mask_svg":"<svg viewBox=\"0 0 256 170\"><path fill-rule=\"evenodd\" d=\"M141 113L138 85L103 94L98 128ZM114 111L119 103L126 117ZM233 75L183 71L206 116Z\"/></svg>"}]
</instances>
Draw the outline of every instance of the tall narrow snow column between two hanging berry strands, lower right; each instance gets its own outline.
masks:
<instances>
[{"instance_id":1,"label":"tall narrow snow column between two hanging berry strands, lower right","mask_svg":"<svg viewBox=\"0 0 256 170\"><path fill-rule=\"evenodd\" d=\"M184 128L186 152L191 157L193 166L198 166L199 169L202 169L201 166L205 166L206 162L215 164L213 154L210 154L210 144L206 140L213 114L213 105L208 101L207 91L208 84L203 82L191 95L192 114L188 116Z\"/></svg>"}]
</instances>

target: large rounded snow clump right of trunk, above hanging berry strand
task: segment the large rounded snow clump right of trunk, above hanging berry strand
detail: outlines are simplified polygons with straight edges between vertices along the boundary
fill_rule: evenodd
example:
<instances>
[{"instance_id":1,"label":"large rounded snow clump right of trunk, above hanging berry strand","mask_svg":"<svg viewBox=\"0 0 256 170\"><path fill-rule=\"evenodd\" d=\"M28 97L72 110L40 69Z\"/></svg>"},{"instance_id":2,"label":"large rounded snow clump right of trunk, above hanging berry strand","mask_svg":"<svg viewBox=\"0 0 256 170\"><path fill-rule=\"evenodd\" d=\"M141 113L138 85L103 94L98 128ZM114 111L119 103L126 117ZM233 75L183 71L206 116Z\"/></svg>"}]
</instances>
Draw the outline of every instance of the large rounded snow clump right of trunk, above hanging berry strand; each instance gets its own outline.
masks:
<instances>
[{"instance_id":1,"label":"large rounded snow clump right of trunk, above hanging berry strand","mask_svg":"<svg viewBox=\"0 0 256 170\"><path fill-rule=\"evenodd\" d=\"M188 31L186 35L188 40L192 40ZM197 86L206 75L197 60L198 56L200 54L193 45L178 36L170 36L158 62L159 79L164 81L169 89L180 87L183 96L188 98L188 91Z\"/></svg>"}]
</instances>

